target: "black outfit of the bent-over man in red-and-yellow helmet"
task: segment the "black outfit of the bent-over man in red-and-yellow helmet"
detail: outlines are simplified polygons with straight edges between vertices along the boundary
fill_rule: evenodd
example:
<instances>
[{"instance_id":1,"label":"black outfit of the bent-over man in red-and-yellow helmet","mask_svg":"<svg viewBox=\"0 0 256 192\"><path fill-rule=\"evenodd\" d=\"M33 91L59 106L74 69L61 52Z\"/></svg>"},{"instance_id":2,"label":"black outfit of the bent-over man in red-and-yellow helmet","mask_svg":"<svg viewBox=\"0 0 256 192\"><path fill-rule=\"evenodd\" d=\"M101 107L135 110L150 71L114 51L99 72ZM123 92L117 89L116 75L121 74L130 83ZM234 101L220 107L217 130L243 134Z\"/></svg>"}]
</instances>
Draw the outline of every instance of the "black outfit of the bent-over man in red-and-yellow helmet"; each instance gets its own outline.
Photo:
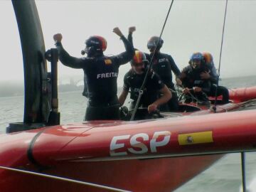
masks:
<instances>
[{"instance_id":1,"label":"black outfit of the bent-over man in red-and-yellow helmet","mask_svg":"<svg viewBox=\"0 0 256 192\"><path fill-rule=\"evenodd\" d=\"M131 90L130 98L133 100L130 110L132 110L137 102L137 98L139 97L139 89L142 87L142 83L144 81L146 73L141 75L134 72L134 70L129 70L124 75L124 87L123 89L128 92ZM144 107L147 109L149 105L155 102L158 99L158 92L164 88L164 83L159 78L159 75L156 73L149 73L148 79L146 81L143 95L139 101L139 107ZM147 110L146 110L147 112ZM147 119L146 117L142 117L141 114L136 114L135 119Z\"/></svg>"}]
</instances>

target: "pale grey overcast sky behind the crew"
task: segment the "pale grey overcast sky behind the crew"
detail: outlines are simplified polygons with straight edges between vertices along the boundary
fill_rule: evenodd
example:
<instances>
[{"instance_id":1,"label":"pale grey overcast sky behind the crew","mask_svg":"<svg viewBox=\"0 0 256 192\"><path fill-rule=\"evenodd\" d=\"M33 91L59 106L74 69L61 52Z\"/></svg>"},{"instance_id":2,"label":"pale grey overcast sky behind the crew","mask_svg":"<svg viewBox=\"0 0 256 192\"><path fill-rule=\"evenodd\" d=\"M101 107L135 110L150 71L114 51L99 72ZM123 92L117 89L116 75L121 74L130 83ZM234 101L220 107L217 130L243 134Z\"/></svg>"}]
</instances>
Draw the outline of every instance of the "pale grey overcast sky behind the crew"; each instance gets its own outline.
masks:
<instances>
[{"instance_id":1,"label":"pale grey overcast sky behind the crew","mask_svg":"<svg viewBox=\"0 0 256 192\"><path fill-rule=\"evenodd\" d=\"M63 34L63 46L70 55L81 57L85 40L91 35L107 39L105 54L124 50L122 41L112 33L119 26L127 36L129 26L136 26L134 46L147 52L146 41L159 36L171 1L36 1L41 18L46 49L54 47L53 34ZM228 1L220 78L254 75L256 1ZM173 56L178 68L188 65L188 58L196 51L213 54L218 68L225 1L176 0L166 23L162 38L163 53ZM18 28L11 1L0 1L0 81L23 80L23 61ZM130 65L119 72L119 86ZM59 65L59 78L81 75Z\"/></svg>"}]
</instances>

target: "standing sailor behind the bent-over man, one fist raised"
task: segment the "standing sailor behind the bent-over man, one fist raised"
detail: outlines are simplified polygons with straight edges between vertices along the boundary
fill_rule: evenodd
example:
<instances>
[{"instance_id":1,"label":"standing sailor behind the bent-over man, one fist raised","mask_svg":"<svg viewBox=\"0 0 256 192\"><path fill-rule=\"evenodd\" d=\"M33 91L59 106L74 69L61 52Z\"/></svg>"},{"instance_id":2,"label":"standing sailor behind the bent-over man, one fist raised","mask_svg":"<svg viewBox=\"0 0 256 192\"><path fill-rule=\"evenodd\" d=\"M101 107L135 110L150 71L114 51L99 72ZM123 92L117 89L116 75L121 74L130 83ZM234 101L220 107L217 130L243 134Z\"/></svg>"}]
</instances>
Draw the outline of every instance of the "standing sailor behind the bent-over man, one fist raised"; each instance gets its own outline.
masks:
<instances>
[{"instance_id":1,"label":"standing sailor behind the bent-over man, one fist raised","mask_svg":"<svg viewBox=\"0 0 256 192\"><path fill-rule=\"evenodd\" d=\"M132 43L132 33L136 30L134 26L129 28L128 41ZM159 44L156 48L156 43L159 40ZM156 53L154 54L154 58L152 60L153 65L152 69L155 73L157 73L164 84L172 91L171 100L169 100L168 105L162 105L160 107L161 111L178 111L178 97L176 95L176 90L174 88L174 83L172 82L172 74L171 71L176 75L176 83L181 85L181 80L179 80L178 76L181 74L178 69L174 59L171 55L160 53L160 49L163 46L164 41L159 37L153 36L149 39L147 43L147 48L149 48L150 54L146 54L147 60L151 60L154 49L156 48ZM133 44L133 43L132 43Z\"/></svg>"}]
</instances>

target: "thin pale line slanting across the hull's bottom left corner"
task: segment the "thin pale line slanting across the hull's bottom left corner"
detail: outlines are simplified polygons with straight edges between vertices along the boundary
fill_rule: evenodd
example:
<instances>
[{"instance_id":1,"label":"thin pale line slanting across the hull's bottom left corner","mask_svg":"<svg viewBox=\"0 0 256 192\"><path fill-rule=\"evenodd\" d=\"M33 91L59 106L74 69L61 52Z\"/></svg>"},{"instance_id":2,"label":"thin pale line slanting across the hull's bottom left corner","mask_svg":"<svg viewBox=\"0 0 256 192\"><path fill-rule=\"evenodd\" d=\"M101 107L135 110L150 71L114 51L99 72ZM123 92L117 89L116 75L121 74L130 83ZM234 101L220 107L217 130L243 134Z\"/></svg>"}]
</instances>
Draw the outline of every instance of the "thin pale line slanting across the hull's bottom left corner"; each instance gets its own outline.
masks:
<instances>
[{"instance_id":1,"label":"thin pale line slanting across the hull's bottom left corner","mask_svg":"<svg viewBox=\"0 0 256 192\"><path fill-rule=\"evenodd\" d=\"M95 187L95 188L103 188L103 189L107 189L107 190L110 190L110 191L129 192L129 191L122 190L122 189L119 189L119 188L112 188L112 187L108 187L108 186L102 186L102 185L95 184L95 183L88 183L88 182L85 182L85 181L78 181L78 180L71 179L71 178L63 178L63 177L60 177L60 176L52 176L52 175L48 175L48 174L39 174L39 173L36 173L36 172L33 172L33 171L25 171L25 170L21 170L21 169L14 169L14 168L6 167L6 166L0 166L0 169L5 169L5 170L9 170L9 171L17 171L17 172L21 172L23 174L32 174L32 175L36 175L36 176L43 176L43 177L46 177L46 178L53 178L53 179L57 179L57 180L61 180L61 181L68 181L68 182L71 182L71 183L78 183L78 184L82 184L82 185L85 185L85 186L92 186L92 187Z\"/></svg>"}]
</instances>

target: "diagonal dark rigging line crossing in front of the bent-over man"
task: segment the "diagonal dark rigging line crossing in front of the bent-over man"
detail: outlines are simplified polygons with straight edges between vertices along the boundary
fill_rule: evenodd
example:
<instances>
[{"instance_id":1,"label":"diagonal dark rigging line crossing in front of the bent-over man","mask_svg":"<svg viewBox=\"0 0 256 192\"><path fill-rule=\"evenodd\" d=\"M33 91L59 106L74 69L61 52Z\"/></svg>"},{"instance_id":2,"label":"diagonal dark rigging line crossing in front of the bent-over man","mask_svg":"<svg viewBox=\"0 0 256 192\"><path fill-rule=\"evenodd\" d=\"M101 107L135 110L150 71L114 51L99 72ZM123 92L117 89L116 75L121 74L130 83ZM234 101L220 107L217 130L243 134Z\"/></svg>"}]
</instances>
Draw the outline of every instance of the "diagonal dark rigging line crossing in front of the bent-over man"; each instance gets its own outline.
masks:
<instances>
[{"instance_id":1,"label":"diagonal dark rigging line crossing in front of the bent-over man","mask_svg":"<svg viewBox=\"0 0 256 192\"><path fill-rule=\"evenodd\" d=\"M158 39L158 41L157 41L157 43L156 43L156 47L154 48L152 57L151 57L151 59L150 59L149 68L146 70L146 75L145 75L144 81L142 82L142 87L140 87L140 89L139 89L139 97L138 97L138 99L137 99L136 105L135 105L135 107L134 107L134 112L132 113L132 117L131 117L130 121L132 121L132 120L134 119L134 116L135 116L135 114L136 114L136 112L137 112L136 106L137 106L137 107L139 106L139 100L140 100L141 97L142 97L143 90L144 90L144 87L145 87L145 85L146 85L146 80L147 80L149 71L151 70L152 61L153 61L154 55L155 55L155 53L156 53L156 48L157 48L157 46L159 45L159 40L160 40L160 38L161 38L161 36L162 36L162 34L163 34L163 32L164 32L164 27L166 26L166 21L167 21L167 19L169 18L169 14L170 14L171 7L172 7L173 4L174 4L174 0L171 1L171 5L169 6L169 10L168 10L168 13L167 13L167 15L166 15L166 19L165 19L165 21L164 21L164 26L163 26L162 29L161 29L161 33L160 33L159 39Z\"/></svg>"}]
</instances>

